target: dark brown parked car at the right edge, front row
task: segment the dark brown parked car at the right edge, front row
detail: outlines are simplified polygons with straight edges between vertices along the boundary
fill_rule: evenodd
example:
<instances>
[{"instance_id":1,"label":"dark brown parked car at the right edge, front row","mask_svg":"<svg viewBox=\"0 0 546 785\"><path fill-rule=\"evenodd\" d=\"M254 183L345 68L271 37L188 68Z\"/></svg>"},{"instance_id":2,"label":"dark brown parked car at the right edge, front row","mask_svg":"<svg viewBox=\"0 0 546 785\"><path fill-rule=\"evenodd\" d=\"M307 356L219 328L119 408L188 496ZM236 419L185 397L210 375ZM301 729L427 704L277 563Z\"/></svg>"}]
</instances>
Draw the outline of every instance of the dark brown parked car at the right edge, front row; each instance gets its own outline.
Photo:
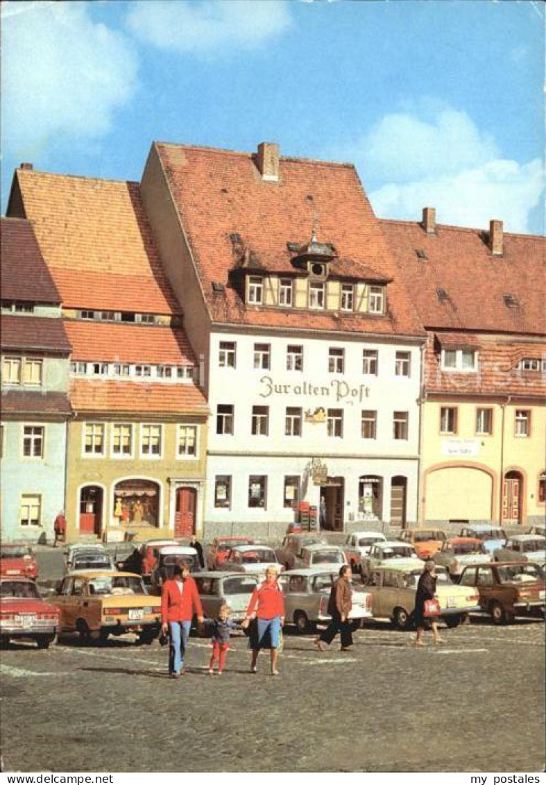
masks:
<instances>
[{"instance_id":1,"label":"dark brown parked car at the right edge, front row","mask_svg":"<svg viewBox=\"0 0 546 785\"><path fill-rule=\"evenodd\" d=\"M544 614L544 570L530 561L495 561L464 568L460 586L475 586L479 606L493 623L509 624L515 616Z\"/></svg>"}]
</instances>

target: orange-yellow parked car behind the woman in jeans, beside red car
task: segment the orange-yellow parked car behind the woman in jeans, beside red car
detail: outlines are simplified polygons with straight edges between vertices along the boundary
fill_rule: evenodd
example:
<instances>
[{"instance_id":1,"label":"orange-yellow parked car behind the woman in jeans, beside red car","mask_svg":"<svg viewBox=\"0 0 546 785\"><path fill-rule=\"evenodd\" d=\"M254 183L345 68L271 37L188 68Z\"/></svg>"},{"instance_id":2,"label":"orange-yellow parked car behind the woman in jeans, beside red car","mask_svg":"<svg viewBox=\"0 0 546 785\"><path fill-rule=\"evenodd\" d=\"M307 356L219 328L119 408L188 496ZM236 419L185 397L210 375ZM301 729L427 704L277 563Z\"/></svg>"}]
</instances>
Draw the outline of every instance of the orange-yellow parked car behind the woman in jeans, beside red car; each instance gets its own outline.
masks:
<instances>
[{"instance_id":1,"label":"orange-yellow parked car behind the woman in jeans, beside red car","mask_svg":"<svg viewBox=\"0 0 546 785\"><path fill-rule=\"evenodd\" d=\"M60 634L105 641L130 632L149 644L161 627L161 599L151 597L140 575L131 572L69 573L49 602L60 610Z\"/></svg>"}]
</instances>

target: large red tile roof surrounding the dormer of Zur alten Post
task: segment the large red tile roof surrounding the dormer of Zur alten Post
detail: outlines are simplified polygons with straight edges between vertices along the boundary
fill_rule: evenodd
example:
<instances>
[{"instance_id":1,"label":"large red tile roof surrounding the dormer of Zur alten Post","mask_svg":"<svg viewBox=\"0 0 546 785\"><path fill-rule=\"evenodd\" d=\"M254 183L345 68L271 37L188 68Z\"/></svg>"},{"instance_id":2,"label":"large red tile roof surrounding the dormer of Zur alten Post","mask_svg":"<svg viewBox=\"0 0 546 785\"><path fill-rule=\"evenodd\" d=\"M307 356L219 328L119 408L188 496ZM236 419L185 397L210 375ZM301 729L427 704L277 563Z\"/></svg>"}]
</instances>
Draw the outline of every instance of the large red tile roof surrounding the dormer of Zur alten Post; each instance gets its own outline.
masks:
<instances>
[{"instance_id":1,"label":"large red tile roof surrounding the dormer of Zur alten Post","mask_svg":"<svg viewBox=\"0 0 546 785\"><path fill-rule=\"evenodd\" d=\"M354 166L281 157L280 179L274 183L262 180L255 157L249 153L162 143L155 144L154 150L173 193L213 320L379 334L423 333ZM253 263L264 271L293 272L287 243L307 243L314 225L319 243L332 243L340 258L331 264L332 276L350 272L362 279L394 278L388 285L387 316L337 320L327 312L249 309L231 284L225 293L213 294L212 283L227 285L230 271L238 264L232 233L241 236Z\"/></svg>"}]
</instances>

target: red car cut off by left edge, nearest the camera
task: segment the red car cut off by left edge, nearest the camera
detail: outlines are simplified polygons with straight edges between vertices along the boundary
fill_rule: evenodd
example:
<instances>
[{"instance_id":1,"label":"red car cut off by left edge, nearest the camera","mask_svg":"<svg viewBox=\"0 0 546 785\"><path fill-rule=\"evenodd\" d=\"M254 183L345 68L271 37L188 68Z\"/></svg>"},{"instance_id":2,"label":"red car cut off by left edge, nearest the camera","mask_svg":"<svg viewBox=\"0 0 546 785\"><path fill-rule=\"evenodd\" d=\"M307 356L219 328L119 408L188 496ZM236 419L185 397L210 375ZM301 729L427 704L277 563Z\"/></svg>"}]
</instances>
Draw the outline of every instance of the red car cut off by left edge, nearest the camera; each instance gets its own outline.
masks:
<instances>
[{"instance_id":1,"label":"red car cut off by left edge, nearest the camera","mask_svg":"<svg viewBox=\"0 0 546 785\"><path fill-rule=\"evenodd\" d=\"M0 579L0 646L30 639L48 648L59 627L59 608L45 602L34 581L20 576Z\"/></svg>"}]
</instances>

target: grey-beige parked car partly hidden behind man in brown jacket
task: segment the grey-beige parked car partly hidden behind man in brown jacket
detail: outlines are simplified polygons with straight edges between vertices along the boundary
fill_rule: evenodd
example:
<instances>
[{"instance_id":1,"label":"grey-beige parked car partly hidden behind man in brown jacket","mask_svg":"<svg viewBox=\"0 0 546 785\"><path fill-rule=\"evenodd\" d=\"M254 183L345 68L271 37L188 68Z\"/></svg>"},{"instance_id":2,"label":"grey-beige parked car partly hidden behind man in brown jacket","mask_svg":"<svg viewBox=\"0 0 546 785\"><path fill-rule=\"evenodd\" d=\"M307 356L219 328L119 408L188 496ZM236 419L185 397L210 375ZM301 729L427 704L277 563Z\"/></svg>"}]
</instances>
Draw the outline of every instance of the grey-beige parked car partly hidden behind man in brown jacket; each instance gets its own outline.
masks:
<instances>
[{"instance_id":1,"label":"grey-beige parked car partly hidden behind man in brown jacket","mask_svg":"<svg viewBox=\"0 0 546 785\"><path fill-rule=\"evenodd\" d=\"M285 623L294 624L299 633L312 632L317 623L328 624L332 619L328 613L329 593L337 577L337 570L325 568L283 572L279 581L284 593ZM357 627L371 615L371 597L359 582L353 586L349 619Z\"/></svg>"}]
</instances>

